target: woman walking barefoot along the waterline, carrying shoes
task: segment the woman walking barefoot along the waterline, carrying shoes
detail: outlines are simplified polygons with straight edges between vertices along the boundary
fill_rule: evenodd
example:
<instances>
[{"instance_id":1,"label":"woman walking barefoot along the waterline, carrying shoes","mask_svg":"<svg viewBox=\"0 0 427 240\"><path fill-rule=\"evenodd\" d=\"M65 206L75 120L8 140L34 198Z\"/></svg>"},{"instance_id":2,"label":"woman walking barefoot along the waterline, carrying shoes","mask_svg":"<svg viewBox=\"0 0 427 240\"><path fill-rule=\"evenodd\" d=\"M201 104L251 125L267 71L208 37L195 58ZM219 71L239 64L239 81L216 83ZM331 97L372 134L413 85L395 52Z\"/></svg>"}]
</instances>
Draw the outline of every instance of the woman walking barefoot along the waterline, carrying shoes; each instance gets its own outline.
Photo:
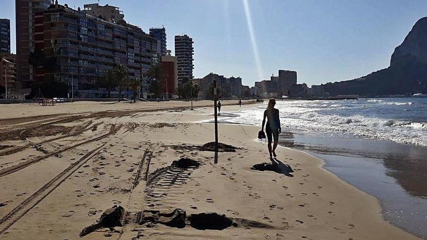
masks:
<instances>
[{"instance_id":1,"label":"woman walking barefoot along the waterline, carrying shoes","mask_svg":"<svg viewBox=\"0 0 427 240\"><path fill-rule=\"evenodd\" d=\"M276 105L276 100L271 98L268 101L267 109L264 111L264 118L263 118L263 127L261 128L262 131L264 131L264 125L265 125L265 118L267 118L267 125L265 125L265 133L267 135L268 139L268 153L270 154L270 159L273 159L273 157L276 158L276 147L279 143L279 133L281 132L280 128L280 119L279 119L279 110L274 108L274 105ZM273 148L271 148L271 140L274 139Z\"/></svg>"}]
</instances>

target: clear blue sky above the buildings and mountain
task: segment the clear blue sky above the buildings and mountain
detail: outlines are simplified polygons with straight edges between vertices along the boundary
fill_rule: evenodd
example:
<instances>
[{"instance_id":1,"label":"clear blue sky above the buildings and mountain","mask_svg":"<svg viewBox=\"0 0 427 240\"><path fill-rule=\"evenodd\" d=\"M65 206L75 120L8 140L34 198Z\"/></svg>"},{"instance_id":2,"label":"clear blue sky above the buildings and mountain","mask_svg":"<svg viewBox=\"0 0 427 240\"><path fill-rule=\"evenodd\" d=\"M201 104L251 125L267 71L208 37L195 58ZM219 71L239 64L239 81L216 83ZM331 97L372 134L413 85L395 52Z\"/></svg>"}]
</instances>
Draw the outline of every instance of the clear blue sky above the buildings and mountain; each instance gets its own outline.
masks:
<instances>
[{"instance_id":1,"label":"clear blue sky above the buildings and mountain","mask_svg":"<svg viewBox=\"0 0 427 240\"><path fill-rule=\"evenodd\" d=\"M59 0L70 7L97 0ZM240 76L243 84L269 79L278 69L296 70L308 85L349 80L389 66L390 57L427 14L426 0L247 0L259 69L244 0L99 0L124 11L148 32L166 28L194 39L194 76L210 72ZM15 0L1 0L0 18L10 18L15 47Z\"/></svg>"}]
</instances>

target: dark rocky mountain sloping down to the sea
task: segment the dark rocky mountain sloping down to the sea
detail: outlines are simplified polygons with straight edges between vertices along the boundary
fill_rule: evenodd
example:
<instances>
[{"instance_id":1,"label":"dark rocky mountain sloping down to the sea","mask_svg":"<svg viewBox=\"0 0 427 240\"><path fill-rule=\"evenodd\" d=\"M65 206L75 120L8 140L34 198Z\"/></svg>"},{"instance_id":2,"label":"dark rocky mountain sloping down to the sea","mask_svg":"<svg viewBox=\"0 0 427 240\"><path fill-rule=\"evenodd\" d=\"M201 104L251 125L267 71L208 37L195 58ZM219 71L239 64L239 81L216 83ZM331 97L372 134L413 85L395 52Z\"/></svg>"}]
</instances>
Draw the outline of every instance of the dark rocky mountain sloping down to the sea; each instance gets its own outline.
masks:
<instances>
[{"instance_id":1,"label":"dark rocky mountain sloping down to the sea","mask_svg":"<svg viewBox=\"0 0 427 240\"><path fill-rule=\"evenodd\" d=\"M419 19L394 49L390 66L361 79L324 84L332 96L427 93L427 17Z\"/></svg>"}]
</instances>

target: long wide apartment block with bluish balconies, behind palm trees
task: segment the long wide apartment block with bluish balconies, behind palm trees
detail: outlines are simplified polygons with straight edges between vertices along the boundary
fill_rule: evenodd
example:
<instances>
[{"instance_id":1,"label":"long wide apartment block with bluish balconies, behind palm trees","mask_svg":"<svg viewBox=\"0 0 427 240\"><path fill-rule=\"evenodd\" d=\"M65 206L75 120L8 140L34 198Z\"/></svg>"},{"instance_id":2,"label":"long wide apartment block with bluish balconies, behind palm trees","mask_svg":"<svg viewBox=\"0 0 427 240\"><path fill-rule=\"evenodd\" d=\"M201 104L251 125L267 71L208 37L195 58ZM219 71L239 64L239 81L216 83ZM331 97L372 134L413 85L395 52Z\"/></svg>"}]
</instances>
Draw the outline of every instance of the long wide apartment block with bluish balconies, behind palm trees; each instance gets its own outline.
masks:
<instances>
[{"instance_id":1,"label":"long wide apartment block with bluish balconies, behind palm trees","mask_svg":"<svg viewBox=\"0 0 427 240\"><path fill-rule=\"evenodd\" d=\"M35 48L51 63L37 68L37 82L64 81L75 97L105 97L106 90L99 88L97 80L116 64L124 64L129 79L142 81L141 94L147 97L150 86L145 73L158 63L156 39L124 21L118 24L79 10L52 4L35 15Z\"/></svg>"}]
</instances>

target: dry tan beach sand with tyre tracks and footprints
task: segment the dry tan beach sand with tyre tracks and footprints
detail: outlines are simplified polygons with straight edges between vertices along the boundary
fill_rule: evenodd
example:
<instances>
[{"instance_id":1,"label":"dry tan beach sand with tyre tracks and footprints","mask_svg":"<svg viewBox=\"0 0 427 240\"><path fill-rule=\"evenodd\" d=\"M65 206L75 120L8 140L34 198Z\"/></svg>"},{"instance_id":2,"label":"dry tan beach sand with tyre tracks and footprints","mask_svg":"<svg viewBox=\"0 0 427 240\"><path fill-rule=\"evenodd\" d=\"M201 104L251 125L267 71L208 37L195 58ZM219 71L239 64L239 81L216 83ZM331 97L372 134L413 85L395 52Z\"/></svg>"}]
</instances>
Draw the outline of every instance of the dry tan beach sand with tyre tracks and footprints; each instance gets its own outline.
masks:
<instances>
[{"instance_id":1,"label":"dry tan beach sand with tyre tracks and footprints","mask_svg":"<svg viewBox=\"0 0 427 240\"><path fill-rule=\"evenodd\" d=\"M0 239L80 239L114 205L129 212L125 225L82 239L417 239L386 223L376 198L311 155L278 148L281 171L252 170L269 161L266 145L254 141L257 127L221 124L220 142L239 149L217 157L202 151L213 124L195 122L212 118L212 108L200 107L212 102L194 104L196 111L178 101L1 105ZM223 112L239 108L227 104ZM201 165L171 167L181 157ZM144 209L175 208L225 214L237 225L134 221Z\"/></svg>"}]
</instances>

